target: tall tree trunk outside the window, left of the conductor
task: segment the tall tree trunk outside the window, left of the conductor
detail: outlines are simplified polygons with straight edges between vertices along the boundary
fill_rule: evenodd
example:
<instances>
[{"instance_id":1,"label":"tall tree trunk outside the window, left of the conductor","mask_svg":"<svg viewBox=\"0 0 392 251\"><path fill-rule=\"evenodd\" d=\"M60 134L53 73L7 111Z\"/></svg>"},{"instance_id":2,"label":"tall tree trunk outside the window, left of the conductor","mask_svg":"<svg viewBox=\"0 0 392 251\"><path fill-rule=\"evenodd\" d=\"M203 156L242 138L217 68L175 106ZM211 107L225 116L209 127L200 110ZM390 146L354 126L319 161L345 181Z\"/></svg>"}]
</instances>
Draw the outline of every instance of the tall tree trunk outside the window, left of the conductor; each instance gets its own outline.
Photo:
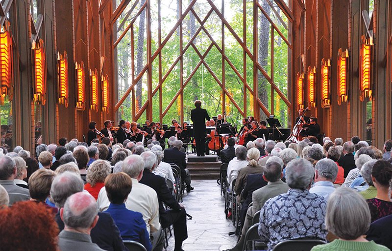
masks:
<instances>
[{"instance_id":1,"label":"tall tree trunk outside the window, left of the conductor","mask_svg":"<svg viewBox=\"0 0 392 251\"><path fill-rule=\"evenodd\" d=\"M145 2L146 0L141 0L140 6L143 6ZM143 69L143 46L144 46L144 29L145 29L144 23L146 20L146 9L142 11L139 18L140 21L139 21L139 32L138 32L138 46L136 48L137 54L136 54L135 77L138 76ZM142 82L143 82L143 78L141 78L136 84L136 106L137 106L136 112L138 112L139 109L142 107Z\"/></svg>"}]
</instances>

